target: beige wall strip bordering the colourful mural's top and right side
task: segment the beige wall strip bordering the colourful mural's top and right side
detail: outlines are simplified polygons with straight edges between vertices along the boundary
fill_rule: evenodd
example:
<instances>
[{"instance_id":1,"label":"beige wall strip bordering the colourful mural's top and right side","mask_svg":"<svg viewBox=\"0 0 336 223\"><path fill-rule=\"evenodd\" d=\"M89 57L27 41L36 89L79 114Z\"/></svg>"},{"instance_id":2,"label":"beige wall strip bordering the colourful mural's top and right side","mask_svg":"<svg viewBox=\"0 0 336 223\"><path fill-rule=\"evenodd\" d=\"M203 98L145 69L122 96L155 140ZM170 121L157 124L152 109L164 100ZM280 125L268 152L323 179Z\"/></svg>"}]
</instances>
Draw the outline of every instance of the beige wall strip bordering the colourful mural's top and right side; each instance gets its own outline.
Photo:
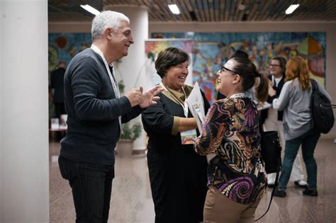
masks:
<instances>
[{"instance_id":1,"label":"beige wall strip bordering the colourful mural's top and right side","mask_svg":"<svg viewBox=\"0 0 336 223\"><path fill-rule=\"evenodd\" d=\"M50 23L50 33L89 33L91 23ZM274 22L244 22L244 23L150 23L149 33L152 32L326 32L327 33L327 62L326 81L327 92L336 103L336 22L316 23L274 23ZM150 36L150 35L149 35ZM336 115L336 113L335 113ZM325 138L336 137L336 127L323 135Z\"/></svg>"}]
</instances>

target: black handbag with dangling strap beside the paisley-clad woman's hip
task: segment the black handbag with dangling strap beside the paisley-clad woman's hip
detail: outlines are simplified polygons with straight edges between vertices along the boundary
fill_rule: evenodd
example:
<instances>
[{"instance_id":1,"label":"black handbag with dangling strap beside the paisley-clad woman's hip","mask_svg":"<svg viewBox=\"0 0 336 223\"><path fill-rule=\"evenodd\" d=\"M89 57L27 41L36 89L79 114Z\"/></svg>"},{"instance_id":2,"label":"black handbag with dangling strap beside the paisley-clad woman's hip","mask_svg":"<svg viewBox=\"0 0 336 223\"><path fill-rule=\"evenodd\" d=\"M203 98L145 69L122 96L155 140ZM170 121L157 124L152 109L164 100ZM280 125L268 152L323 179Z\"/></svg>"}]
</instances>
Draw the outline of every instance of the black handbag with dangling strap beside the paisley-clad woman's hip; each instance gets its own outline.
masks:
<instances>
[{"instance_id":1,"label":"black handbag with dangling strap beside the paisley-clad woman's hip","mask_svg":"<svg viewBox=\"0 0 336 223\"><path fill-rule=\"evenodd\" d=\"M266 173L276 173L274 188L271 191L271 200L273 199L274 191L278 185L279 172L281 171L281 146L279 141L278 132L268 131L261 132L262 138L260 139L260 147L262 149L262 160L265 163ZM271 200L269 200L269 207L271 207ZM266 212L264 212L264 217L269 211L267 207ZM254 222L257 222L262 217L259 217Z\"/></svg>"}]
</instances>

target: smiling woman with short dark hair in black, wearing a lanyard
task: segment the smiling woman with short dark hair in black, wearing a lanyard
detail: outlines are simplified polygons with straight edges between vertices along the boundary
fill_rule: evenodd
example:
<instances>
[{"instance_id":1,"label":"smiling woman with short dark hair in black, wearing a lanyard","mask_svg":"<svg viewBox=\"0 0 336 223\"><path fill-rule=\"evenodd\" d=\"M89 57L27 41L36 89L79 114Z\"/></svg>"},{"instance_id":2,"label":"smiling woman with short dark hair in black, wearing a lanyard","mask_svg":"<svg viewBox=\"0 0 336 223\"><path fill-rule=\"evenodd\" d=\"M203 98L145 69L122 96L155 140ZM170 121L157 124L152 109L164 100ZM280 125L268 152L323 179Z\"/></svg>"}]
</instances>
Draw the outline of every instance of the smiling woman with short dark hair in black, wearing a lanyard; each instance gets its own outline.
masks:
<instances>
[{"instance_id":1,"label":"smiling woman with short dark hair in black, wearing a lanyard","mask_svg":"<svg viewBox=\"0 0 336 223\"><path fill-rule=\"evenodd\" d=\"M165 90L159 93L157 105L142 113L149 137L147 161L155 222L203 222L207 162L194 151L197 124L186 103L193 88L184 84L189 62L189 55L177 48L159 52L155 68ZM206 113L210 105L199 94L198 110Z\"/></svg>"}]
</instances>

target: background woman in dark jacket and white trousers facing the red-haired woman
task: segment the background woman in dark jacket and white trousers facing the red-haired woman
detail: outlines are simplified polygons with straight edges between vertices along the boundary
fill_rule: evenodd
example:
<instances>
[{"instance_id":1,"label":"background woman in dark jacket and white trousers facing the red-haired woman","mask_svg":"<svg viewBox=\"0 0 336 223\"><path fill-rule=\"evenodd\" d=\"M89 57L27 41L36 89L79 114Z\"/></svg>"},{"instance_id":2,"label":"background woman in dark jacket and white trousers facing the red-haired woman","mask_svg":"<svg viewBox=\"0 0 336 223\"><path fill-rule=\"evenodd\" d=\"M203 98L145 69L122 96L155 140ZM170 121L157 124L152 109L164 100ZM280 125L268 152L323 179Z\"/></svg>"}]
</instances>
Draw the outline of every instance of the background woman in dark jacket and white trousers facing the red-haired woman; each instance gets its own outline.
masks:
<instances>
[{"instance_id":1,"label":"background woman in dark jacket and white trousers facing the red-haired woman","mask_svg":"<svg viewBox=\"0 0 336 223\"><path fill-rule=\"evenodd\" d=\"M279 97L281 88L284 86L286 78L286 59L284 57L274 57L271 59L271 64L269 64L269 71L271 75L269 76L269 88L273 88L276 91L276 96ZM269 97L269 100L271 97ZM271 103L271 101L269 101ZM279 132L280 144L284 151L285 139L284 139L284 127L282 123L282 117L284 112L279 110L276 111L273 108L264 109L261 111L260 119L263 124L263 130L266 131L277 131ZM267 183L269 188L274 187L276 173L267 174ZM306 188L307 182L303 181L304 175L301 166L300 154L296 156L293 163L293 171L291 173L291 181L298 188Z\"/></svg>"}]
</instances>

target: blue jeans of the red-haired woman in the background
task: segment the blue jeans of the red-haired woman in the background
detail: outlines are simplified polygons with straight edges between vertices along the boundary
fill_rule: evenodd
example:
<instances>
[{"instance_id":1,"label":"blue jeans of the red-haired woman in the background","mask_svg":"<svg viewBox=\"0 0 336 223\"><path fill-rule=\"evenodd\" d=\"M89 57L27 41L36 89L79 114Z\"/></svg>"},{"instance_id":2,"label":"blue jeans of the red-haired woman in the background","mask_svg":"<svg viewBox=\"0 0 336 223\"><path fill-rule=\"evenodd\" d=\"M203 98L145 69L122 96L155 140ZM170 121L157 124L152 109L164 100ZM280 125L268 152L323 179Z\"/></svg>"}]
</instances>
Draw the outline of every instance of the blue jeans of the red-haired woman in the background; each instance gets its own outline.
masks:
<instances>
[{"instance_id":1,"label":"blue jeans of the red-haired woman in the background","mask_svg":"<svg viewBox=\"0 0 336 223\"><path fill-rule=\"evenodd\" d=\"M305 161L306 164L308 188L317 188L318 166L316 165L314 158L314 151L319 138L320 133L316 133L314 130L309 130L300 137L286 140L284 161L279 178L278 188L280 190L286 189L286 185L289 182L289 177L291 176L293 161L296 158L296 154L298 154L300 145L302 149L303 161Z\"/></svg>"}]
</instances>

